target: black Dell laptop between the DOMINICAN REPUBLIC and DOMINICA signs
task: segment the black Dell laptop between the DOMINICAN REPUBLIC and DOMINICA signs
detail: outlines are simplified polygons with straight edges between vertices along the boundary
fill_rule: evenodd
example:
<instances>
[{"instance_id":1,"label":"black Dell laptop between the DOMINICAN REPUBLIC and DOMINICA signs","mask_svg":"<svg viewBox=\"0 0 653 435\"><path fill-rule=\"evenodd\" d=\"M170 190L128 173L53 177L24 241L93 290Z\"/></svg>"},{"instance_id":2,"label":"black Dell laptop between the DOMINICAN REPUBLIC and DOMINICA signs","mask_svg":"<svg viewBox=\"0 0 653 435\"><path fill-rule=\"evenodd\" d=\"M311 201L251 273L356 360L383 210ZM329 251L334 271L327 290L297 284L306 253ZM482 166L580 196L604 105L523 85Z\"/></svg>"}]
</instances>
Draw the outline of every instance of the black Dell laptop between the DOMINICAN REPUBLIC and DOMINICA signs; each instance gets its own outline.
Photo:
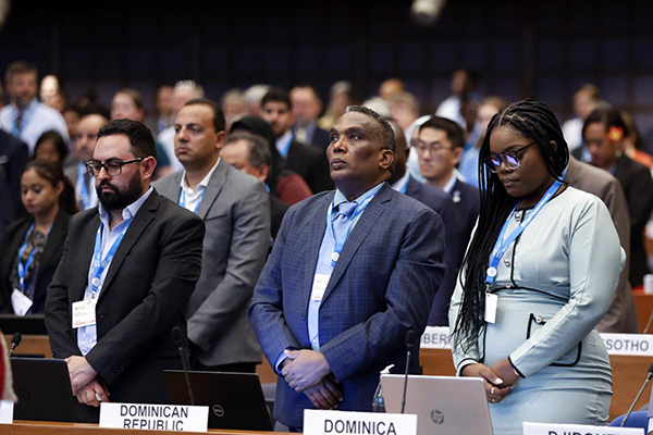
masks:
<instances>
[{"instance_id":1,"label":"black Dell laptop between the DOMINICAN REPUBLIC and DOMINICA signs","mask_svg":"<svg viewBox=\"0 0 653 435\"><path fill-rule=\"evenodd\" d=\"M173 405L190 405L181 370L163 371ZM195 405L209 407L209 428L272 431L270 411L256 373L188 372Z\"/></svg>"}]
</instances>

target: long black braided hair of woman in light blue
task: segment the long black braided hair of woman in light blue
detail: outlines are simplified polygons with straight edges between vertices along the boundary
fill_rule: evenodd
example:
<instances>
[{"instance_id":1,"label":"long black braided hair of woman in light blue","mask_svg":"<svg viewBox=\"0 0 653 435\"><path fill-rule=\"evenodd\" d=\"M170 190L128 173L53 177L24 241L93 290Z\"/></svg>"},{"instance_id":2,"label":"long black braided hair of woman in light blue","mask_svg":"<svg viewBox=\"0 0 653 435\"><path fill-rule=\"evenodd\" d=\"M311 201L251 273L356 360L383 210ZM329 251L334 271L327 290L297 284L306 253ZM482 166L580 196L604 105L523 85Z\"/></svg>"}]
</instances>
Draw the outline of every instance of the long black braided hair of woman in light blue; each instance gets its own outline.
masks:
<instances>
[{"instance_id":1,"label":"long black braided hair of woman in light blue","mask_svg":"<svg viewBox=\"0 0 653 435\"><path fill-rule=\"evenodd\" d=\"M544 103L531 99L517 101L502 109L490 121L479 153L481 210L473 238L463 261L463 303L452 335L454 341L466 351L477 344L485 327L485 271L498 233L519 200L507 194L498 176L484 164L490 156L492 132L504 126L537 142L549 173L555 178L562 178L569 162L569 148L560 125Z\"/></svg>"}]
</instances>

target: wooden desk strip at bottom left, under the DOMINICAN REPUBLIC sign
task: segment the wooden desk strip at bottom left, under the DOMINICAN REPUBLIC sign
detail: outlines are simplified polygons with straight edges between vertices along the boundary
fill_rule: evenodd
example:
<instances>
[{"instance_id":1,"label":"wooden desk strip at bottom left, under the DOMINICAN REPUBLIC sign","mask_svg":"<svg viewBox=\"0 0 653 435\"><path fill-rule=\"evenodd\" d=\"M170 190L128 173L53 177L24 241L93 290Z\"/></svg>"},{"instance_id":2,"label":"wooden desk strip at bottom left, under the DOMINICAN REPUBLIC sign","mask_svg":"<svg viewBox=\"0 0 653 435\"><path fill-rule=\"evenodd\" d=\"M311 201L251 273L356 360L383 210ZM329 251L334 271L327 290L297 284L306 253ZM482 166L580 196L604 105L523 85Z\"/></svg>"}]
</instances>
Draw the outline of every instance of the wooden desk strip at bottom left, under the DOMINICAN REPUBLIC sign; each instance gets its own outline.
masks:
<instances>
[{"instance_id":1,"label":"wooden desk strip at bottom left, under the DOMINICAN REPUBLIC sign","mask_svg":"<svg viewBox=\"0 0 653 435\"><path fill-rule=\"evenodd\" d=\"M8 435L128 435L128 434L160 434L172 435L178 432L172 431L143 431L143 430L126 430L126 428L100 428L97 424L84 423L58 423L58 422L28 422L15 421L14 424L0 424L0 433ZM201 432L184 432L184 434L200 434ZM219 435L267 435L272 432L262 431L226 431L226 430L209 430L210 434ZM274 434L283 434L274 432Z\"/></svg>"}]
</instances>

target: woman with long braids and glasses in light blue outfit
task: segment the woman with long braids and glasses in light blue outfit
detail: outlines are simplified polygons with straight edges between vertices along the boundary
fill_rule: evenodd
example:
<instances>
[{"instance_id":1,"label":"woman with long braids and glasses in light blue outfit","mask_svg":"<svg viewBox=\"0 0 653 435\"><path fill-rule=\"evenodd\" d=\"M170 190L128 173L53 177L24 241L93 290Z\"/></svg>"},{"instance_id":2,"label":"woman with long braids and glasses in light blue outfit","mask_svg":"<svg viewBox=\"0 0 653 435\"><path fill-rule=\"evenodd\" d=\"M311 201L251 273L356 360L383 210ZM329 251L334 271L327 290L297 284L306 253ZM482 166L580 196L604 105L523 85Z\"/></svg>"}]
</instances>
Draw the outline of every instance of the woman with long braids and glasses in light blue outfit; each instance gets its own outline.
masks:
<instances>
[{"instance_id":1,"label":"woman with long braids and glasses in light blue outfit","mask_svg":"<svg viewBox=\"0 0 653 435\"><path fill-rule=\"evenodd\" d=\"M562 182L568 148L537 101L498 112L480 150L481 213L449 310L458 375L485 380L496 435L603 424L612 370L594 328L625 253L603 202Z\"/></svg>"}]
</instances>

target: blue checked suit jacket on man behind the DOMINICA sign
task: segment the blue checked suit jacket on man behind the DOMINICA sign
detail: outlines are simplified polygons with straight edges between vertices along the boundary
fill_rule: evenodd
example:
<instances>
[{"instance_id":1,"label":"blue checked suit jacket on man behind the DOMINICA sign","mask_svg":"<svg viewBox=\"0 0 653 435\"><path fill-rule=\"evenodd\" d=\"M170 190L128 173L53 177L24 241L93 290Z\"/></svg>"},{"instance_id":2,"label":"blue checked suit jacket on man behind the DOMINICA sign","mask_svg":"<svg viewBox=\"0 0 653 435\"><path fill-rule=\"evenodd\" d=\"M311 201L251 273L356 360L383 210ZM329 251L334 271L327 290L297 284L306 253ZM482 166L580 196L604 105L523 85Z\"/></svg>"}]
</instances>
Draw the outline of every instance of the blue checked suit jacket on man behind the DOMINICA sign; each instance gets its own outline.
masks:
<instances>
[{"instance_id":1,"label":"blue checked suit jacket on man behind the DOMINICA sign","mask_svg":"<svg viewBox=\"0 0 653 435\"><path fill-rule=\"evenodd\" d=\"M311 348L308 301L333 196L315 195L287 211L257 283L249 318L271 364L286 348ZM440 216L385 184L349 234L319 310L320 349L341 383L341 410L370 411L379 372L404 370L406 333L424 331L443 257ZM419 372L418 351L410 369ZM274 417L300 427L307 408L308 398L280 376Z\"/></svg>"}]
</instances>

